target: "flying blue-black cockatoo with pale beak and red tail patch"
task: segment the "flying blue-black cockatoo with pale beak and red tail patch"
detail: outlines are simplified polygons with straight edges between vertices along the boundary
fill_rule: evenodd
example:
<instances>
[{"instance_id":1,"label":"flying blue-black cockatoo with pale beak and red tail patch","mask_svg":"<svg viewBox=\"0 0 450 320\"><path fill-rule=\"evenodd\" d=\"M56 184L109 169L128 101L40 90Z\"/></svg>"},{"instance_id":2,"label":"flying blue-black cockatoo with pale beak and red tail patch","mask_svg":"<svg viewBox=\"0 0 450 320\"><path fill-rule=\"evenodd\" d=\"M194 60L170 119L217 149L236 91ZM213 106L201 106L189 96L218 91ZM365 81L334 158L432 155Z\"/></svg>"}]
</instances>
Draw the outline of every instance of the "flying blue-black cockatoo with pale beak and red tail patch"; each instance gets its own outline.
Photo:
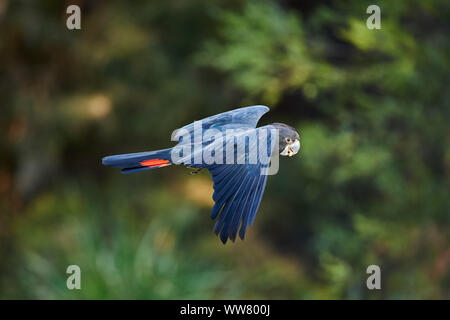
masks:
<instances>
[{"instance_id":1,"label":"flying blue-black cockatoo with pale beak and red tail patch","mask_svg":"<svg viewBox=\"0 0 450 320\"><path fill-rule=\"evenodd\" d=\"M228 239L235 242L238 233L244 240L274 159L300 150L300 135L293 127L283 123L257 127L268 111L267 106L256 105L219 113L175 130L174 147L107 156L102 163L125 174L170 165L193 168L192 173L207 169L214 189L210 213L213 220L217 218L214 233L223 244Z\"/></svg>"}]
</instances>

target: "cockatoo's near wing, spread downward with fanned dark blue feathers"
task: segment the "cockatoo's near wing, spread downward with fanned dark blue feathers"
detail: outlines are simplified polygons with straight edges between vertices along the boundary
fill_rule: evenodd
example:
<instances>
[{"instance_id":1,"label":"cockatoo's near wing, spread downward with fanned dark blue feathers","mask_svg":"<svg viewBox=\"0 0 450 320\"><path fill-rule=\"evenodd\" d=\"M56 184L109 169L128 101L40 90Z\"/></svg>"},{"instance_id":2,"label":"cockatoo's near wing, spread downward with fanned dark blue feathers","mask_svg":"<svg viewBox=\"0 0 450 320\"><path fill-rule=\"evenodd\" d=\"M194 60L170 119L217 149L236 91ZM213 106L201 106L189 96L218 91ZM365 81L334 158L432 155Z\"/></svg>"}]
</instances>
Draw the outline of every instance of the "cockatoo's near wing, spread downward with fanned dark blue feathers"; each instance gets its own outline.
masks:
<instances>
[{"instance_id":1,"label":"cockatoo's near wing, spread downward with fanned dark blue feathers","mask_svg":"<svg viewBox=\"0 0 450 320\"><path fill-rule=\"evenodd\" d=\"M258 133L268 132L266 156L270 158L275 149L272 140L274 127L264 126L254 130ZM258 152L258 148L252 144L248 153ZM215 164L206 168L211 172L214 182L215 204L211 210L211 218L215 219L220 214L214 232L220 234L223 243L228 238L234 241L238 231L240 238L244 239L247 227L253 224L264 193L269 161L262 160L258 155L253 164L246 161L245 164Z\"/></svg>"}]
</instances>

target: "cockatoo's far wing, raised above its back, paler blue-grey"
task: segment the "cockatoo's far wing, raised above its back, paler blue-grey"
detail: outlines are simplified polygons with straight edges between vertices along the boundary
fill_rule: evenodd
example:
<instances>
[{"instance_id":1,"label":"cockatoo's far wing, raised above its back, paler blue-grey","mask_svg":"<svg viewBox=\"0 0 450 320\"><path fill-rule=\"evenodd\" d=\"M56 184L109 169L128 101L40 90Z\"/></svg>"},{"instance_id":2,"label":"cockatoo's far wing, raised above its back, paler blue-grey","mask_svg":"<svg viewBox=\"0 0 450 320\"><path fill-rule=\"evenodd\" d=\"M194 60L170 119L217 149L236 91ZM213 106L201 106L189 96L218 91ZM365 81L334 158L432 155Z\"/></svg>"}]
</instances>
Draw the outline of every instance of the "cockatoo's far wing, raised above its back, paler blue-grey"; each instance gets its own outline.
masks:
<instances>
[{"instance_id":1,"label":"cockatoo's far wing, raised above its back, paler blue-grey","mask_svg":"<svg viewBox=\"0 0 450 320\"><path fill-rule=\"evenodd\" d=\"M180 135L189 133L192 137L194 134L195 123L201 124L202 130L217 129L219 131L224 131L229 128L256 128L259 119L268 111L269 108L266 106L251 106L219 113L176 130L174 138L176 141L182 143L182 141L179 140L181 137Z\"/></svg>"}]
</instances>

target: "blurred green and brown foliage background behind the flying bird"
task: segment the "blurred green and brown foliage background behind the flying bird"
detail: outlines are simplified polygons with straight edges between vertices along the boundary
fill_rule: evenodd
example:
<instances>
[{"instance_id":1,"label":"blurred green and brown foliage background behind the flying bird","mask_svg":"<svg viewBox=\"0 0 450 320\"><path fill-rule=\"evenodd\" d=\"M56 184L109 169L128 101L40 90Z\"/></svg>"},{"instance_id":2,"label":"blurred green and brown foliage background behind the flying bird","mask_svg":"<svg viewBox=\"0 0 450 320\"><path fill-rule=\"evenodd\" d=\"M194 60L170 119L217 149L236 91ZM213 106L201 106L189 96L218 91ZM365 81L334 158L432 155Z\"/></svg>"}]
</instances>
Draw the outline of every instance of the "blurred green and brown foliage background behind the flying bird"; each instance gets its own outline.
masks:
<instances>
[{"instance_id":1,"label":"blurred green and brown foliage background behind the flying bird","mask_svg":"<svg viewBox=\"0 0 450 320\"><path fill-rule=\"evenodd\" d=\"M449 299L449 4L0 0L0 298ZM208 172L101 166L254 104L302 149L245 241Z\"/></svg>"}]
</instances>

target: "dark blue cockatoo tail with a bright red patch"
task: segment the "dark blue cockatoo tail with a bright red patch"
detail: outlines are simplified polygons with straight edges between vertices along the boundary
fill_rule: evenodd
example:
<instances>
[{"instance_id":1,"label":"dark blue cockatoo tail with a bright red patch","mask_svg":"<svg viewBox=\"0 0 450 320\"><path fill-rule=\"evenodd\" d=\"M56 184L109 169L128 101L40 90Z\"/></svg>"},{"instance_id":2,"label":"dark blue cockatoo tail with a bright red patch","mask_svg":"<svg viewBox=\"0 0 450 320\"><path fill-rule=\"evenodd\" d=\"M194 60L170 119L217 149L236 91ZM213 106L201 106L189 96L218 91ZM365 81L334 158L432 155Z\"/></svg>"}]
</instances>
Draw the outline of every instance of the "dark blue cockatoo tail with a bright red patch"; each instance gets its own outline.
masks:
<instances>
[{"instance_id":1,"label":"dark blue cockatoo tail with a bright red patch","mask_svg":"<svg viewBox=\"0 0 450 320\"><path fill-rule=\"evenodd\" d=\"M149 152L119 154L104 157L102 163L105 166L120 168L122 169L122 173L156 169L172 164L171 151L172 148Z\"/></svg>"}]
</instances>

